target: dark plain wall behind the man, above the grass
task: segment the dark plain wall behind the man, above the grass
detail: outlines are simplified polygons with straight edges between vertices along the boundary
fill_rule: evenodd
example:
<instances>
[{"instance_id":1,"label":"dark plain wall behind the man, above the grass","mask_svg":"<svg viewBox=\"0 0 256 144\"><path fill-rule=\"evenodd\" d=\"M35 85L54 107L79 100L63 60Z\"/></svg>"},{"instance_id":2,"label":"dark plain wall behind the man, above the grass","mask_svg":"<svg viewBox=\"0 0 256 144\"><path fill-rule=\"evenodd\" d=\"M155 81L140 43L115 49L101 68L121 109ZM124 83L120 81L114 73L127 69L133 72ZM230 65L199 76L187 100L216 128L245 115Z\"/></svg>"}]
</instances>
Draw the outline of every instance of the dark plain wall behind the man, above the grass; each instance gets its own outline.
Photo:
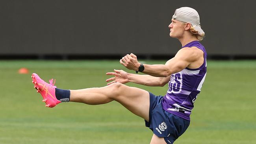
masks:
<instances>
[{"instance_id":1,"label":"dark plain wall behind the man, above the grass","mask_svg":"<svg viewBox=\"0 0 256 144\"><path fill-rule=\"evenodd\" d=\"M0 59L166 59L175 9L195 8L208 59L256 59L256 1L1 0Z\"/></svg>"}]
</instances>

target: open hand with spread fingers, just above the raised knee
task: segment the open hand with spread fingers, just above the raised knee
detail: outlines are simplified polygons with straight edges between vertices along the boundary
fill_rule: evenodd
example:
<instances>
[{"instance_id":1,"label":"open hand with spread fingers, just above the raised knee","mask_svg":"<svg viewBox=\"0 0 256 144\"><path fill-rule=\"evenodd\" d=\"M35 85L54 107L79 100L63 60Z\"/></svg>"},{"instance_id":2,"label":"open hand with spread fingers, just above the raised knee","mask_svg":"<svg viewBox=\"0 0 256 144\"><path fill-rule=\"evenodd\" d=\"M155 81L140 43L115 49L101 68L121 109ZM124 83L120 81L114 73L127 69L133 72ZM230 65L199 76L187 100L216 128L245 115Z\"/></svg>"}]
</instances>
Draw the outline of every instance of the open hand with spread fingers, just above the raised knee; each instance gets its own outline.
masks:
<instances>
[{"instance_id":1,"label":"open hand with spread fingers, just above the raised knee","mask_svg":"<svg viewBox=\"0 0 256 144\"><path fill-rule=\"evenodd\" d=\"M113 75L115 77L106 79L106 82L111 81L107 85L110 85L112 83L128 83L128 73L123 70L114 70L115 72L107 72L106 75Z\"/></svg>"}]
</instances>

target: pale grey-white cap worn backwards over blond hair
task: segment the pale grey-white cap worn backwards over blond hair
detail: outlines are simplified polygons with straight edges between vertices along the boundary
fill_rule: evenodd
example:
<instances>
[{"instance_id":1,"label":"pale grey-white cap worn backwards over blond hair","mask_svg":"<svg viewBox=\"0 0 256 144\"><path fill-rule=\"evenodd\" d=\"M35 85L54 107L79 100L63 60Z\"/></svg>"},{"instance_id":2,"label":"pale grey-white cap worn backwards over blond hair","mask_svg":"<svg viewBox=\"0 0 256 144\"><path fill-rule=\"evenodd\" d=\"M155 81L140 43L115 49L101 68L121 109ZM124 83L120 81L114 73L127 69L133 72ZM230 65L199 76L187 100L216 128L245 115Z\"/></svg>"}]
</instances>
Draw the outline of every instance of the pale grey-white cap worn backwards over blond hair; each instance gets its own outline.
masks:
<instances>
[{"instance_id":1,"label":"pale grey-white cap worn backwards over blond hair","mask_svg":"<svg viewBox=\"0 0 256 144\"><path fill-rule=\"evenodd\" d=\"M176 9L173 19L190 23L195 30L198 31L198 34L204 34L204 31L200 26L200 17L197 11L191 7L180 7Z\"/></svg>"}]
</instances>

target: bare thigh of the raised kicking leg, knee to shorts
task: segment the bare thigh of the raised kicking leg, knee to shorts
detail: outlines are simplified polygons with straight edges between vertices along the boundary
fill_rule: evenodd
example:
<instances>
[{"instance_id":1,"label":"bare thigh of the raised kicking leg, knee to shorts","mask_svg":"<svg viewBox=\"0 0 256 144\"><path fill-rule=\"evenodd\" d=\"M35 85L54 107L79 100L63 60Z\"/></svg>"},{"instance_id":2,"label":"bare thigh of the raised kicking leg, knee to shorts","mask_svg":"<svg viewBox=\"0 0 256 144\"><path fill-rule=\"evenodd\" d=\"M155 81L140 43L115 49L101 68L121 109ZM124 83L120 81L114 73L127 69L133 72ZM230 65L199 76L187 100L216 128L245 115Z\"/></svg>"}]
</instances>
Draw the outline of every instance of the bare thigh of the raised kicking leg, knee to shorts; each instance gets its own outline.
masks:
<instances>
[{"instance_id":1,"label":"bare thigh of the raised kicking leg, knee to shorts","mask_svg":"<svg viewBox=\"0 0 256 144\"><path fill-rule=\"evenodd\" d=\"M149 92L136 87L128 87L120 84L118 88L119 94L115 98L115 101L121 103L126 109L132 113L149 120Z\"/></svg>"}]
</instances>

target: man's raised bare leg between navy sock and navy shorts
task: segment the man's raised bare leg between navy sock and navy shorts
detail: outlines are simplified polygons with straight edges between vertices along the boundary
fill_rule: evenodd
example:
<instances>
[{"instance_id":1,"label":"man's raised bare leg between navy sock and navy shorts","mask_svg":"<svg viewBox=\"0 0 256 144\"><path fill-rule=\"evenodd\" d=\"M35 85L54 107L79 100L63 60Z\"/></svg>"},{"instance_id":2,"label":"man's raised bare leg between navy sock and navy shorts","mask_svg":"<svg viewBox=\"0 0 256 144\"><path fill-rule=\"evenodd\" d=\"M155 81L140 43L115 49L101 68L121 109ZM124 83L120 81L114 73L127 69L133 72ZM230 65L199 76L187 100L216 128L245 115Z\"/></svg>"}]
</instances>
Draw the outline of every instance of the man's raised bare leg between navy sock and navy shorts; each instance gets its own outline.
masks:
<instances>
[{"instance_id":1,"label":"man's raised bare leg between navy sock and navy shorts","mask_svg":"<svg viewBox=\"0 0 256 144\"><path fill-rule=\"evenodd\" d=\"M111 101L121 103L132 113L149 120L149 93L146 90L113 83L106 87L70 90L70 102L99 105Z\"/></svg>"}]
</instances>

